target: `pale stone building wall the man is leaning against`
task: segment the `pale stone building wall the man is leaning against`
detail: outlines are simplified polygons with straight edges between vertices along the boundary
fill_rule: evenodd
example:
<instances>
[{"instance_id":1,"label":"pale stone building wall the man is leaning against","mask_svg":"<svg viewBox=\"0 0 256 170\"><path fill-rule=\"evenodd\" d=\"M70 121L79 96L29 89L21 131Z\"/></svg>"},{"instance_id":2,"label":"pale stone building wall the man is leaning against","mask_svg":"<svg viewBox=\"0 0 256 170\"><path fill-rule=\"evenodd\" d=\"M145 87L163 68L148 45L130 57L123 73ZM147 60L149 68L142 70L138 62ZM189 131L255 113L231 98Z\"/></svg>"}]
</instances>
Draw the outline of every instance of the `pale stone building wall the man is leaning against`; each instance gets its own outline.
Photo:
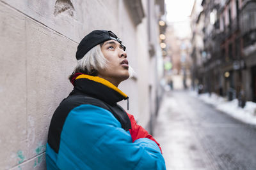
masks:
<instances>
[{"instance_id":1,"label":"pale stone building wall the man is leaning against","mask_svg":"<svg viewBox=\"0 0 256 170\"><path fill-rule=\"evenodd\" d=\"M68 75L76 66L77 45L94 29L115 32L127 46L136 74L119 88L131 99L129 113L152 129L161 97L164 0L0 4L0 169L45 169L52 114L72 90Z\"/></svg>"}]
</instances>

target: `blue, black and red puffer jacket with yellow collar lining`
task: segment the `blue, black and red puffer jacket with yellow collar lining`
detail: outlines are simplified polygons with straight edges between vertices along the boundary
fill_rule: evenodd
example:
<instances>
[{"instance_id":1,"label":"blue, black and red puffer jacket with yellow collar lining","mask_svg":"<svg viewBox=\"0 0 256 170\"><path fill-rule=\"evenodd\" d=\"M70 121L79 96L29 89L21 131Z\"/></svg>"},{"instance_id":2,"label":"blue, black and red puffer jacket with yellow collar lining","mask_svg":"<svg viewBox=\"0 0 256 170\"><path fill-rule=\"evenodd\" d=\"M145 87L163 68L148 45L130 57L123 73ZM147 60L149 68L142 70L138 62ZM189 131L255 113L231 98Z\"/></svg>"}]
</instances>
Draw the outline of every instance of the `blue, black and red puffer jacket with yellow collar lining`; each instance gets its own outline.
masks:
<instances>
[{"instance_id":1,"label":"blue, black and red puffer jacket with yellow collar lining","mask_svg":"<svg viewBox=\"0 0 256 170\"><path fill-rule=\"evenodd\" d=\"M166 169L157 141L116 104L123 99L109 81L77 76L52 116L47 169Z\"/></svg>"}]
</instances>

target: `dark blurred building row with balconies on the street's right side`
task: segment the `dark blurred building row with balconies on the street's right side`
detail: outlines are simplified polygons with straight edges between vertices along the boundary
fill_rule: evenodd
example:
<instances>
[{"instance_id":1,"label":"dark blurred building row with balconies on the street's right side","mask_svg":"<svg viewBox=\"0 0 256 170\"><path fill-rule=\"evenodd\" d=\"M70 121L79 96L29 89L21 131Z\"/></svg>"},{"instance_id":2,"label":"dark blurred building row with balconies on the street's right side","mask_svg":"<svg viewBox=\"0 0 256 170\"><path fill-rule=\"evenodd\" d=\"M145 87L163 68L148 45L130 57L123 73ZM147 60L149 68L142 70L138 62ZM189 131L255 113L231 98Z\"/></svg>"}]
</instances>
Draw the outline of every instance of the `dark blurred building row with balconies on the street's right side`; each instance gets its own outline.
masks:
<instances>
[{"instance_id":1,"label":"dark blurred building row with balconies on the street's right side","mask_svg":"<svg viewBox=\"0 0 256 170\"><path fill-rule=\"evenodd\" d=\"M194 87L203 85L204 92L238 98L241 106L256 102L255 4L203 0L203 10L191 13ZM195 41L198 35L203 45Z\"/></svg>"}]
</instances>

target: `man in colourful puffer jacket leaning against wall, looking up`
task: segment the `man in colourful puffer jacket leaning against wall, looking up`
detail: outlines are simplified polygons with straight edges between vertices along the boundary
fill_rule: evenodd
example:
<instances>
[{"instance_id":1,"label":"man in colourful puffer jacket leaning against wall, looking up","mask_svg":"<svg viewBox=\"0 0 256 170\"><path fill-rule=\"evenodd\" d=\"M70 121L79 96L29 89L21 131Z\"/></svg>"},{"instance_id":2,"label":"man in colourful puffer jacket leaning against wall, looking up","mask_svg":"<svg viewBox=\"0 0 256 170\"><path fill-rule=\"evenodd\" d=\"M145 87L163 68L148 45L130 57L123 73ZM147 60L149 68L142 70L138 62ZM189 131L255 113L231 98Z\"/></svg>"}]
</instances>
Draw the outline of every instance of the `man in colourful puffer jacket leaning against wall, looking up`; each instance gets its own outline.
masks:
<instances>
[{"instance_id":1,"label":"man in colourful puffer jacket leaning against wall, looking up","mask_svg":"<svg viewBox=\"0 0 256 170\"><path fill-rule=\"evenodd\" d=\"M47 169L165 169L161 148L116 104L128 99L118 85L129 78L122 41L95 30L77 47L74 90L52 116Z\"/></svg>"}]
</instances>

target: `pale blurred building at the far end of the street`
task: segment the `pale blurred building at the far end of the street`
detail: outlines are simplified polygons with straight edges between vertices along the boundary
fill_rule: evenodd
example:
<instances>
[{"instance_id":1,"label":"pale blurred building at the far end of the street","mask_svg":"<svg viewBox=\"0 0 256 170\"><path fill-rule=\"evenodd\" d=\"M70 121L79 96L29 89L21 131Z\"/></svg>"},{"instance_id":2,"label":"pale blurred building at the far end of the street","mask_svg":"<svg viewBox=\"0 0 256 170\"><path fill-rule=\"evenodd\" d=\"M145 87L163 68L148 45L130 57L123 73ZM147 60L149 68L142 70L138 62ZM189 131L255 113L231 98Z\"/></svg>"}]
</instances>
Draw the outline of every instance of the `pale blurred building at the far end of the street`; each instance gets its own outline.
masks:
<instances>
[{"instance_id":1,"label":"pale blurred building at the far end of the street","mask_svg":"<svg viewBox=\"0 0 256 170\"><path fill-rule=\"evenodd\" d=\"M169 23L166 27L164 76L173 89L187 89L191 85L191 38L190 34L177 36L175 24Z\"/></svg>"}]
</instances>

